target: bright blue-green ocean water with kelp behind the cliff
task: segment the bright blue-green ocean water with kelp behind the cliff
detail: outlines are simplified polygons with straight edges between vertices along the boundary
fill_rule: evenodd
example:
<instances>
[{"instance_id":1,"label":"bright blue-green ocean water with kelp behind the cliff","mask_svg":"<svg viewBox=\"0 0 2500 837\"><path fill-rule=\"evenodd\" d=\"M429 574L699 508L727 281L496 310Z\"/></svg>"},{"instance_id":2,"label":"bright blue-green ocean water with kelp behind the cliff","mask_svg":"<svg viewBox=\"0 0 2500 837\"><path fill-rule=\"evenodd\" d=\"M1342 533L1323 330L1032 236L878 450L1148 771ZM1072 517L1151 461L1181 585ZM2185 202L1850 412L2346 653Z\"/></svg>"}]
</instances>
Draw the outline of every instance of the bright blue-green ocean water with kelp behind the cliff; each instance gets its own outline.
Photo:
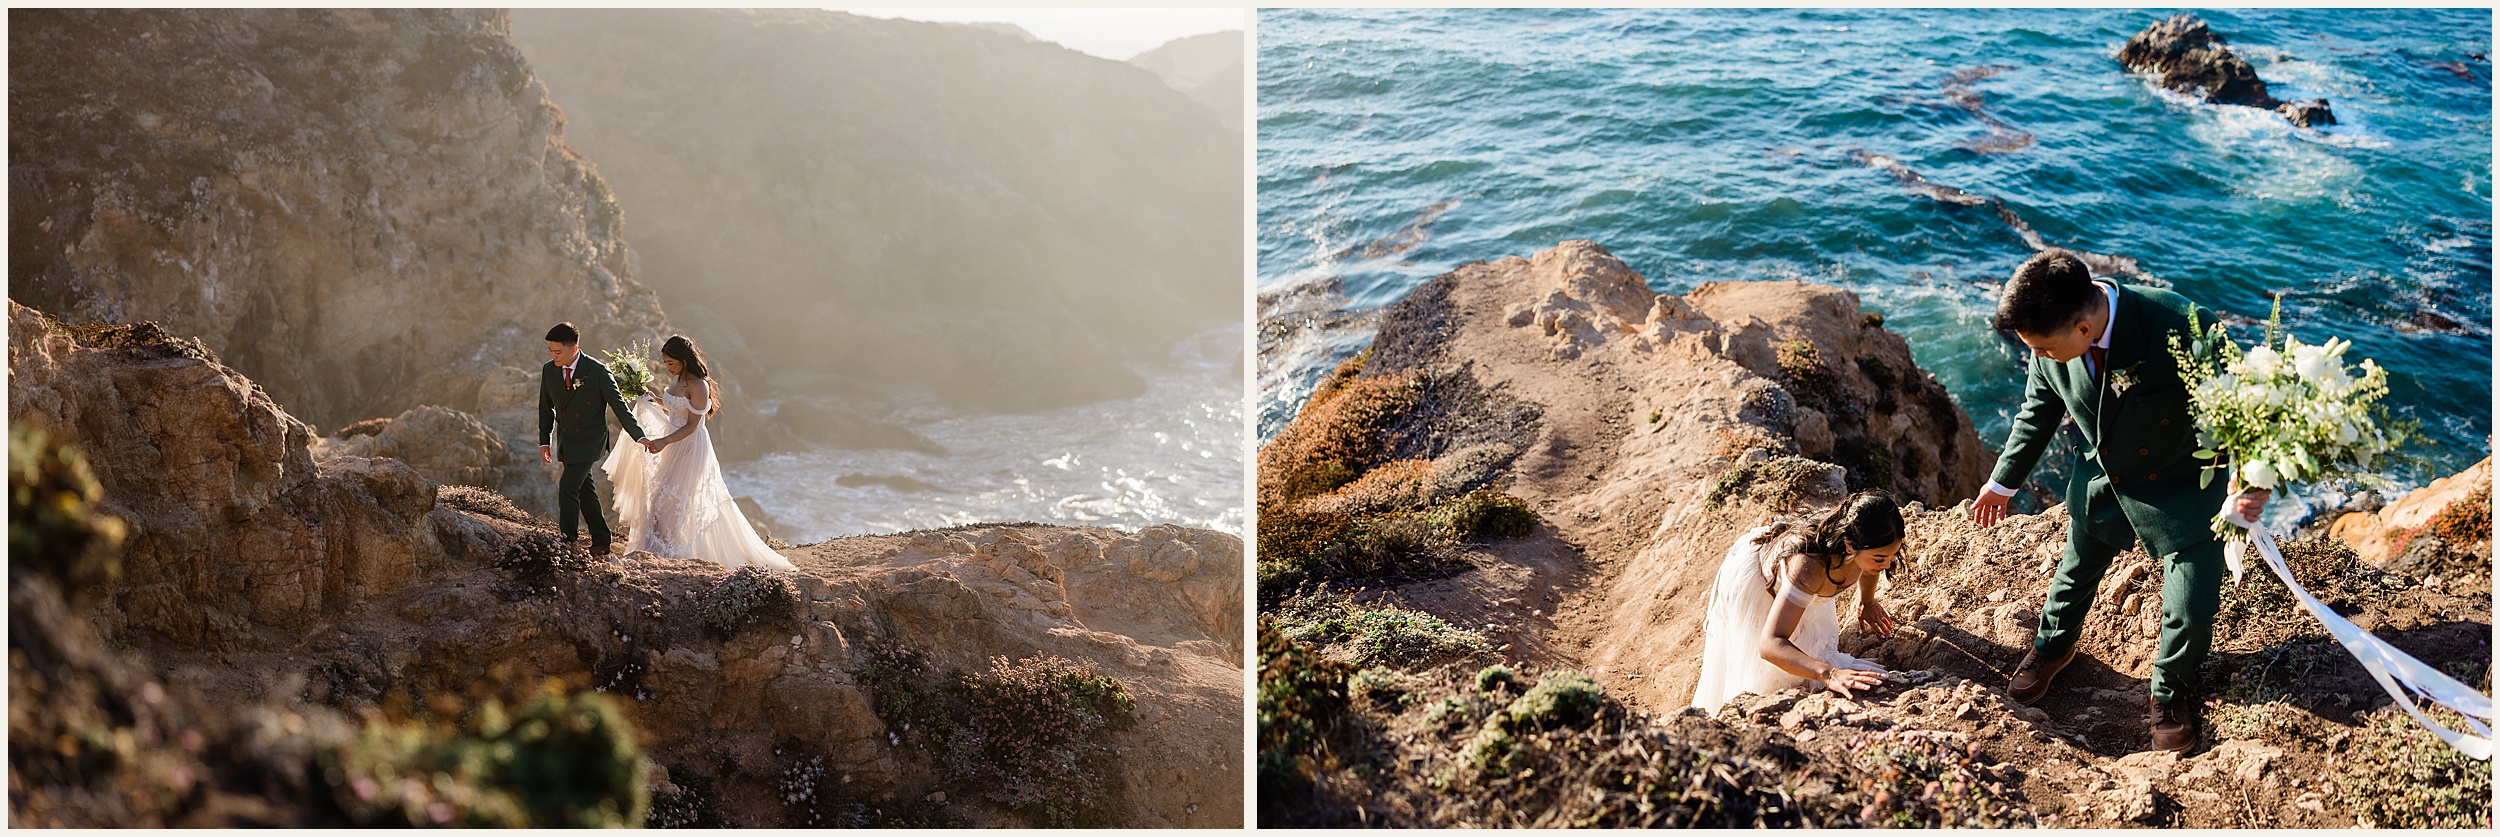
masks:
<instances>
[{"instance_id":1,"label":"bright blue-green ocean water with kelp behind the cliff","mask_svg":"<svg viewBox=\"0 0 2500 837\"><path fill-rule=\"evenodd\" d=\"M1262 10L1258 287L1328 300L1265 345L1260 437L1462 262L1588 237L1662 292L1815 280L1882 312L2002 445L2020 347L1995 290L2048 245L2200 305L2355 342L2422 422L2418 485L2490 452L2490 10L2200 12L2280 100L2162 92L2115 62L2142 10ZM1342 285L1342 300L1312 287ZM2250 322L2240 320L2240 322ZM2238 337L2255 340L2242 325ZM2310 497L2332 500L2332 497Z\"/></svg>"}]
</instances>

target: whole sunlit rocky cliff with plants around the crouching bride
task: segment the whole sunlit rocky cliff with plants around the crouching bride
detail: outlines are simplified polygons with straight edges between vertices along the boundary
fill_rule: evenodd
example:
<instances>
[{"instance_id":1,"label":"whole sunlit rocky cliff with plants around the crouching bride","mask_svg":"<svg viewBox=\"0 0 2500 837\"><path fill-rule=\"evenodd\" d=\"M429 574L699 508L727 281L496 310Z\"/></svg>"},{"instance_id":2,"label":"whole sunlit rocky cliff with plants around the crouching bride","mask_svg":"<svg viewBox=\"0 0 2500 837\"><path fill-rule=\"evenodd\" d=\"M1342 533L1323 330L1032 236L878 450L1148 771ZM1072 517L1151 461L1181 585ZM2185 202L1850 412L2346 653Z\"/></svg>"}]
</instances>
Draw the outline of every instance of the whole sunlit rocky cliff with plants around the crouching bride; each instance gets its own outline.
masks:
<instances>
[{"instance_id":1,"label":"whole sunlit rocky cliff with plants around the crouching bride","mask_svg":"<svg viewBox=\"0 0 2500 837\"><path fill-rule=\"evenodd\" d=\"M1592 242L1418 287L1260 450L1262 825L2490 822L2488 765L2408 737L2262 567L2225 595L2208 747L2138 752L2160 620L2140 550L2058 692L2008 702L2065 510L1972 527L1990 460L1838 287L1658 295ZM1735 537L1860 485L1915 500L1880 592L1905 627L1842 615L1888 685L1688 712ZM1505 502L1530 517L1485 525ZM2450 517L2420 550L2488 565L2488 512ZM2318 535L2290 547L2312 592L2488 690L2488 567L2440 582Z\"/></svg>"}]
</instances>

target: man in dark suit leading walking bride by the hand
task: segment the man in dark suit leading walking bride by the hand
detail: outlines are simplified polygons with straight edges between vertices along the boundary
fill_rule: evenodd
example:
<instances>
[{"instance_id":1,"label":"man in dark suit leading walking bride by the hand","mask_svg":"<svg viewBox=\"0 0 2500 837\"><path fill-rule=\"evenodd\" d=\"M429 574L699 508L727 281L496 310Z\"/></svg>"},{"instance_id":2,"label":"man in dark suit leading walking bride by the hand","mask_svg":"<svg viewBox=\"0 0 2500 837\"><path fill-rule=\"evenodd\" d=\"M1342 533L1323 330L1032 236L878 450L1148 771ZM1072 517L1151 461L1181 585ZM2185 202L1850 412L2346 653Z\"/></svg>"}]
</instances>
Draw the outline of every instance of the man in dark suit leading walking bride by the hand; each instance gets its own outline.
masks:
<instances>
[{"instance_id":1,"label":"man in dark suit leading walking bride by the hand","mask_svg":"<svg viewBox=\"0 0 2500 837\"><path fill-rule=\"evenodd\" d=\"M555 525L570 547L580 532L575 520L590 515L590 555L608 555L610 545L608 515L590 485L590 465L608 455L608 417L600 410L615 412L625 435L642 440L642 425L635 425L618 395L615 377L598 360L582 357L582 332L572 322L558 322L548 330L548 367L538 380L538 460L565 462L565 475L555 482ZM548 435L555 430L562 435L555 435L550 450Z\"/></svg>"}]
</instances>

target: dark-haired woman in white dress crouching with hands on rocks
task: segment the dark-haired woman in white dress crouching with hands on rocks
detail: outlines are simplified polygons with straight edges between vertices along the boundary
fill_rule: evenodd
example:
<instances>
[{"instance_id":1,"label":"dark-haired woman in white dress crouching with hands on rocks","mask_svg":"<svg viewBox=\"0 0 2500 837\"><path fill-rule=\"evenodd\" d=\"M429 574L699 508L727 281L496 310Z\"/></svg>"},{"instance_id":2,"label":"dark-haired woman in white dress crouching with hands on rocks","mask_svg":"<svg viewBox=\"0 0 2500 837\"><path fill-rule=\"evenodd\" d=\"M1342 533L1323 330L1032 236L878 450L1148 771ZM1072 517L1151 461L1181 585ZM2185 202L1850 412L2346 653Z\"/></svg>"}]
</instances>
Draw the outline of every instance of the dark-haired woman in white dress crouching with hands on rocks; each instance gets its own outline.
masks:
<instances>
[{"instance_id":1,"label":"dark-haired woman in white dress crouching with hands on rocks","mask_svg":"<svg viewBox=\"0 0 2500 837\"><path fill-rule=\"evenodd\" d=\"M1858 587L1858 625L1890 637L1892 617L1875 605L1875 577L1900 555L1900 535L1892 495L1855 492L1820 520L1788 517L1738 537L1702 622L1702 680L1692 705L1718 712L1735 695L1808 682L1840 697L1880 685L1880 665L1840 652L1835 600Z\"/></svg>"}]
</instances>

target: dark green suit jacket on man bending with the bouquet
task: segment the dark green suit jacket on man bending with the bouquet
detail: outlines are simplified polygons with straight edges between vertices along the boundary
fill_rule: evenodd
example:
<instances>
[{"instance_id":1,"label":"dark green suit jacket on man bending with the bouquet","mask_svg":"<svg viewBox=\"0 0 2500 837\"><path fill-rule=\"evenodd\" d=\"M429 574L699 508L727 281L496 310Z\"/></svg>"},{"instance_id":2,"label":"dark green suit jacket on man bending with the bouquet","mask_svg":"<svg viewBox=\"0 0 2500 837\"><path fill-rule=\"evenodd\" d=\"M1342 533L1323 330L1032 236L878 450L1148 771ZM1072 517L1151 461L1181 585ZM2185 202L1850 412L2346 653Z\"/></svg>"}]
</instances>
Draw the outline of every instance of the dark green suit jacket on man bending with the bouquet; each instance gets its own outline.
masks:
<instances>
[{"instance_id":1,"label":"dark green suit jacket on man bending with the bouquet","mask_svg":"<svg viewBox=\"0 0 2500 837\"><path fill-rule=\"evenodd\" d=\"M1998 485L2020 487L2048 452L2058 422L2075 417L2082 430L2088 467L2068 485L2068 512L2092 530L2132 525L2155 555L2188 550L2212 540L2208 522L2222 507L2225 480L2198 487L2195 417L2188 412L2188 385L2170 357L2170 335L2195 340L2212 327L2210 310L2195 310L2188 297L2160 287L2118 287L2118 317L2110 332L2110 375L2095 377L2082 357L2052 362L2032 355L2022 410L1990 475ZM2090 502L2108 485L2118 505ZM2130 537L2132 540L2132 537Z\"/></svg>"}]
</instances>

